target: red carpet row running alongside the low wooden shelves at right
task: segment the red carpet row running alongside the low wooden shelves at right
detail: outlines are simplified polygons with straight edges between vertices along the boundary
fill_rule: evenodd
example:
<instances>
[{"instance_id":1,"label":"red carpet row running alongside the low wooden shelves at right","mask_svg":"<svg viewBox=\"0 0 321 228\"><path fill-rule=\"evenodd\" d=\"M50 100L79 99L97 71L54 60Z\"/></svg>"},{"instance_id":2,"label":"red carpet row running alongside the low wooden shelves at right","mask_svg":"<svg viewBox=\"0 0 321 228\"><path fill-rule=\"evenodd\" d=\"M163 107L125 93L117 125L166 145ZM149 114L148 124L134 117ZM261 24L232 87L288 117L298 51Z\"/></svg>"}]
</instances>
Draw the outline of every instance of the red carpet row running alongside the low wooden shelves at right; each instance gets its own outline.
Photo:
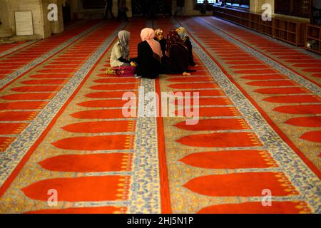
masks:
<instances>
[{"instance_id":1,"label":"red carpet row running alongside the low wooden shelves at right","mask_svg":"<svg viewBox=\"0 0 321 228\"><path fill-rule=\"evenodd\" d=\"M317 54L240 26L235 26L227 21L221 21L215 17L206 17L202 21L220 29L220 31L225 32L228 36L233 36L235 40L246 44L255 51L263 53L271 60L280 63L303 78L307 78L318 86L321 85L321 60Z\"/></svg>"}]
</instances>

